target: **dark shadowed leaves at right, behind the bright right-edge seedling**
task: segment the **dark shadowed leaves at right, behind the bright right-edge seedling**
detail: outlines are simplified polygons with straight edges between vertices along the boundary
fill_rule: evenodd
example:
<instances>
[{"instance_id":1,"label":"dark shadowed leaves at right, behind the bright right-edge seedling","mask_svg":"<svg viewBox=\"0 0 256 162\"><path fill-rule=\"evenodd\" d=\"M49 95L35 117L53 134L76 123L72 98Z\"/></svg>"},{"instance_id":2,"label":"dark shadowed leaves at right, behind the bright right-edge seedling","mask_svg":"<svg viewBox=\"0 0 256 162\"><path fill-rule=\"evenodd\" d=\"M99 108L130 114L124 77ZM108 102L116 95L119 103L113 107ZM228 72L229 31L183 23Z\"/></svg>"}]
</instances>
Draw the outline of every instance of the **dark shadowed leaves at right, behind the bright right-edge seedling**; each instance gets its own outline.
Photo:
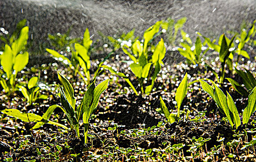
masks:
<instances>
[{"instance_id":1,"label":"dark shadowed leaves at right, behind the bright right-edge seedling","mask_svg":"<svg viewBox=\"0 0 256 162\"><path fill-rule=\"evenodd\" d=\"M244 83L244 88L242 85L240 85L237 81L231 79L231 78L226 78L232 85L232 87L241 95L244 95L245 97L248 97L248 95L250 94L250 92L252 91L252 89L254 87L256 87L256 79L253 76L253 74L245 69L245 72L242 70L237 70L235 68L235 71L237 72L237 74L242 78L242 81Z\"/></svg>"}]
</instances>

